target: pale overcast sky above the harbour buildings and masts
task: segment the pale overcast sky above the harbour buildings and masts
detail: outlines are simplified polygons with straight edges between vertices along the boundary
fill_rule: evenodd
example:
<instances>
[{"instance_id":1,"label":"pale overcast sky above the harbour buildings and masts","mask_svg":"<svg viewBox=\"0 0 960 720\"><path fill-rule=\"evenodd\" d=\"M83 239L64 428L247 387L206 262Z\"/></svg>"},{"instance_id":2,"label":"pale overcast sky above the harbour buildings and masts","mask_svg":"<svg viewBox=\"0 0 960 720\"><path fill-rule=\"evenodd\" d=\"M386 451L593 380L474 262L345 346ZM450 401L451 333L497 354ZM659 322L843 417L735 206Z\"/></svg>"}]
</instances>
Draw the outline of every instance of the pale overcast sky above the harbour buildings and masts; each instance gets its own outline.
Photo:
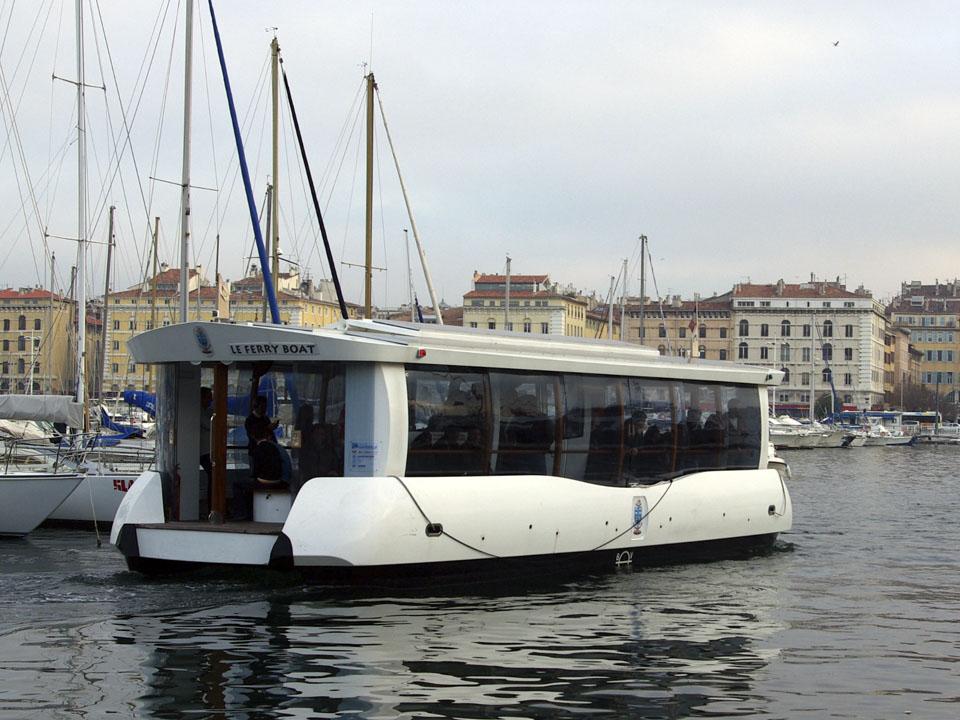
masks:
<instances>
[{"instance_id":1,"label":"pale overcast sky above the harbour buildings and masts","mask_svg":"<svg viewBox=\"0 0 960 720\"><path fill-rule=\"evenodd\" d=\"M266 29L276 27L337 261L363 260L356 103L372 63L434 281L452 304L474 270L502 272L508 253L514 273L600 292L631 258L636 292L640 234L661 295L815 273L888 298L904 280L960 275L956 2L220 0L216 9L258 204L270 174ZM112 285L124 288L142 276L154 215L161 260L179 262L179 189L150 177L180 178L183 3L99 0L86 12L87 82L106 86L87 92L90 233L104 239L102 208L116 205ZM205 1L196 17L192 254L212 274L219 232L220 270L237 279L250 219ZM3 2L0 22L0 286L32 285L44 280L40 227L77 234L75 91L51 80L76 77L73 3ZM374 302L394 305L407 297L410 223L377 122L374 262L386 270ZM323 277L289 128L284 110L281 245ZM49 243L62 286L75 243ZM102 246L90 262L99 294ZM348 299L361 302L361 271L339 270ZM418 266L414 281L425 302Z\"/></svg>"}]
</instances>

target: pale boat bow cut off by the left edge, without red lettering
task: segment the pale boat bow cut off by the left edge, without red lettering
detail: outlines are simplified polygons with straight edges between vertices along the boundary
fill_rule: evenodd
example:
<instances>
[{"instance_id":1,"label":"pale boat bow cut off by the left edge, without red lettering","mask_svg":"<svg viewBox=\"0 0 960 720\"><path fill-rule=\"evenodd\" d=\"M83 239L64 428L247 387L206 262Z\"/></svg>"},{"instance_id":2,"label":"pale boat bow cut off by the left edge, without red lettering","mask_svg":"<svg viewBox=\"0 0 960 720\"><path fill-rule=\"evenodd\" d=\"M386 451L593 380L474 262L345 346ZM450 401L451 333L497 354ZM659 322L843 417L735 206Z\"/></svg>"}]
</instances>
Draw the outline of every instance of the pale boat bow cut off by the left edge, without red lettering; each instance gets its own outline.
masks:
<instances>
[{"instance_id":1,"label":"pale boat bow cut off by the left edge, without red lettering","mask_svg":"<svg viewBox=\"0 0 960 720\"><path fill-rule=\"evenodd\" d=\"M0 535L26 535L47 519L83 479L79 474L0 476Z\"/></svg>"}]
</instances>

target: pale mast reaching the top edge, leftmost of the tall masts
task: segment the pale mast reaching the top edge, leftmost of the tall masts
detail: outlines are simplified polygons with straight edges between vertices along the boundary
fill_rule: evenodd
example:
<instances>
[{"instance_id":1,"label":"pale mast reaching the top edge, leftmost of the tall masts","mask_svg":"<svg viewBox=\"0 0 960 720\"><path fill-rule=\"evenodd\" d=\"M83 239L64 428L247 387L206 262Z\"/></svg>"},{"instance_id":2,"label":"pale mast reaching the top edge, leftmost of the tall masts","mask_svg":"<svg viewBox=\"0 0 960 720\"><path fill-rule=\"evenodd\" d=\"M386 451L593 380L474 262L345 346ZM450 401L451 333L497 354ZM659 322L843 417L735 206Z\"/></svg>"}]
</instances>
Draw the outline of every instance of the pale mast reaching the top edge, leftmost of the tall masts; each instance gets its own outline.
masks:
<instances>
[{"instance_id":1,"label":"pale mast reaching the top edge, leftmost of the tall masts","mask_svg":"<svg viewBox=\"0 0 960 720\"><path fill-rule=\"evenodd\" d=\"M84 406L83 429L87 429L87 134L83 66L83 0L77 0L77 377L76 398Z\"/></svg>"}]
</instances>

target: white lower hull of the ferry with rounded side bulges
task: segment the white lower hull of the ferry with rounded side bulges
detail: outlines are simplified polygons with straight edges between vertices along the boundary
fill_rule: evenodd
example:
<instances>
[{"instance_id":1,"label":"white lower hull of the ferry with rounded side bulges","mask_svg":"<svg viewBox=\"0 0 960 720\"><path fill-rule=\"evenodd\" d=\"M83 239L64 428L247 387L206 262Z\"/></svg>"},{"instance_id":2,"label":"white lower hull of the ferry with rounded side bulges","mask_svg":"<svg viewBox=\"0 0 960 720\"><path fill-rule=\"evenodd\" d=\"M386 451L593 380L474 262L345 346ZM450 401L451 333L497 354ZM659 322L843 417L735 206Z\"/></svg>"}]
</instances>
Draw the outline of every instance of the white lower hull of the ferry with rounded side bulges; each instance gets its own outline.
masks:
<instances>
[{"instance_id":1,"label":"white lower hull of the ferry with rounded side bulges","mask_svg":"<svg viewBox=\"0 0 960 720\"><path fill-rule=\"evenodd\" d=\"M613 566L635 553L668 560L681 545L772 540L792 522L776 470L637 487L551 476L318 478L301 488L282 525L236 531L164 523L160 497L159 476L145 473L117 513L111 541L131 568L274 565L322 576L584 554Z\"/></svg>"}]
</instances>

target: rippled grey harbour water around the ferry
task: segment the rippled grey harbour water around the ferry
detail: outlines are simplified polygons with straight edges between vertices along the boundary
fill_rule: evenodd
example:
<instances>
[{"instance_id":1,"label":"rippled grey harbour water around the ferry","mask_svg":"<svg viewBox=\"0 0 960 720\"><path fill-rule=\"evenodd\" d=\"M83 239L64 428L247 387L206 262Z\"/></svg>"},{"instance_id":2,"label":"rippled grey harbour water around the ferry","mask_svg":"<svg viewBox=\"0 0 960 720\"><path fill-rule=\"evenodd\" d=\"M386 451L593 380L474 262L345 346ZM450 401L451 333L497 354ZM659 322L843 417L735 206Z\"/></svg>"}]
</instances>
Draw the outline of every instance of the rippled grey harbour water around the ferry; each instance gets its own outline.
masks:
<instances>
[{"instance_id":1,"label":"rippled grey harbour water around the ferry","mask_svg":"<svg viewBox=\"0 0 960 720\"><path fill-rule=\"evenodd\" d=\"M786 458L770 554L523 587L151 580L92 532L3 541L0 717L960 717L960 448Z\"/></svg>"}]
</instances>

